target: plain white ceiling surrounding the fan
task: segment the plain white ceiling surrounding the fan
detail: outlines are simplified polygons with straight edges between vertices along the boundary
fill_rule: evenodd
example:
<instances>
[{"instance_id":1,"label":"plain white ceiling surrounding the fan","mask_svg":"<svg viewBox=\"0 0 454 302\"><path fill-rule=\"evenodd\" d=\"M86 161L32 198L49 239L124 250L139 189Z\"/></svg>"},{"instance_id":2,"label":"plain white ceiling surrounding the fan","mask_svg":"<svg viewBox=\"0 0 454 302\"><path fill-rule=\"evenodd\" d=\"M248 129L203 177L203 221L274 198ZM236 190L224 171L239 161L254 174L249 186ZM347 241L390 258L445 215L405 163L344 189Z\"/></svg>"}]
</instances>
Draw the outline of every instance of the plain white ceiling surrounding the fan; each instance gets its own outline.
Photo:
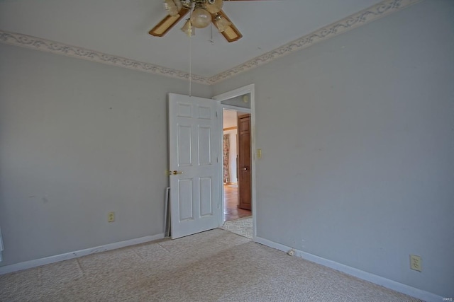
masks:
<instances>
[{"instance_id":1,"label":"plain white ceiling surrounding the fan","mask_svg":"<svg viewBox=\"0 0 454 302\"><path fill-rule=\"evenodd\" d=\"M148 31L166 16L162 0L0 0L0 30L32 35L118 57L214 76L379 0L225 2L223 11L243 33L228 43L211 26L190 40L179 28L165 37Z\"/></svg>"}]
</instances>

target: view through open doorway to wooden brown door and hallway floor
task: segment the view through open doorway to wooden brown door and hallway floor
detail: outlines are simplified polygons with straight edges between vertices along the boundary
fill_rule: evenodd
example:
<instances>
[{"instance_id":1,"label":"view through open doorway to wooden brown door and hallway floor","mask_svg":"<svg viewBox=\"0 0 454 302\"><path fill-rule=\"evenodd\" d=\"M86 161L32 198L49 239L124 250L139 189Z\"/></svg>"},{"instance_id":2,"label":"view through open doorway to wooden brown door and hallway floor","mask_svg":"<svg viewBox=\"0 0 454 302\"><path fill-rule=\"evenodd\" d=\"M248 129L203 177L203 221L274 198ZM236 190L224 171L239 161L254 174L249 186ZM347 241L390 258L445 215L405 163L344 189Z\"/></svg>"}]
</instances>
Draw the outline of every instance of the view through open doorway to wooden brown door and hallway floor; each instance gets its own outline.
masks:
<instances>
[{"instance_id":1,"label":"view through open doorway to wooden brown door and hallway floor","mask_svg":"<svg viewBox=\"0 0 454 302\"><path fill-rule=\"evenodd\" d=\"M223 221L252 216L250 113L223 109Z\"/></svg>"}]
</instances>

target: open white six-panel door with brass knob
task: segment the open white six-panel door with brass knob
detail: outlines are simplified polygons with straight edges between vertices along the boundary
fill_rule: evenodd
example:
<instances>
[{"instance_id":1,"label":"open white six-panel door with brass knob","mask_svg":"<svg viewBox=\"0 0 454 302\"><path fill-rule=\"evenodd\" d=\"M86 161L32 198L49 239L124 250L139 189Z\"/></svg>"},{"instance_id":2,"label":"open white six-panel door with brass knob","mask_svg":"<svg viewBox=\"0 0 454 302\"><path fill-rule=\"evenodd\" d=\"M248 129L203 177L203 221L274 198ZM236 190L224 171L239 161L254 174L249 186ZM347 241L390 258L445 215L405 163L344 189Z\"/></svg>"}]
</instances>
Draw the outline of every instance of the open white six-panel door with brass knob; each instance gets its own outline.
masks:
<instances>
[{"instance_id":1,"label":"open white six-panel door with brass knob","mask_svg":"<svg viewBox=\"0 0 454 302\"><path fill-rule=\"evenodd\" d=\"M173 239L219 226L216 102L169 93L170 219Z\"/></svg>"}]
</instances>

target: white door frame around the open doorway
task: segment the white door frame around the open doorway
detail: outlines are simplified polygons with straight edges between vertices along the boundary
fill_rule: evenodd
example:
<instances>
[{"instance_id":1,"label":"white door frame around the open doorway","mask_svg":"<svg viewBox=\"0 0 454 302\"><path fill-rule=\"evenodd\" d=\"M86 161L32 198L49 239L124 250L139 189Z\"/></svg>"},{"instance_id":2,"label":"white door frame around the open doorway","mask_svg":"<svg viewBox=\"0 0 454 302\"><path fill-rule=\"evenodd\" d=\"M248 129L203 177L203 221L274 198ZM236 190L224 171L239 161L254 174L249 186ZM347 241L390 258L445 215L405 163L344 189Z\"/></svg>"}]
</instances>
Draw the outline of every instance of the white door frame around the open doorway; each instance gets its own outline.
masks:
<instances>
[{"instance_id":1,"label":"white door frame around the open doorway","mask_svg":"<svg viewBox=\"0 0 454 302\"><path fill-rule=\"evenodd\" d=\"M245 94L250 94L250 109L248 108L243 108L243 107L237 107L233 105L224 105L221 104L223 100L228 100L231 98L236 98L237 96L240 95L245 95ZM251 202L253 203L253 240L255 241L255 237L257 236L257 231L255 228L256 225L256 215L257 213L257 194L255 190L255 85L250 84L247 86L243 86L237 89L234 89L233 91L227 91L226 93L222 93L220 95L215 95L213 97L213 100L216 100L218 103L218 117L220 117L218 120L218 125L219 129L223 129L223 109L228 109L228 110L237 110L241 112L248 112L250 113L250 154L251 154L251 168L252 168L252 173L251 173ZM221 135L219 135L219 141L218 144L220 146L220 150L222 150L222 136L223 132L221 131ZM220 160L218 161L219 165L219 185L221 187L221 215L219 216L219 226L223 225L223 208L224 208L224 199L223 199L223 178L222 178L222 172L223 172L223 153L221 152Z\"/></svg>"}]
</instances>

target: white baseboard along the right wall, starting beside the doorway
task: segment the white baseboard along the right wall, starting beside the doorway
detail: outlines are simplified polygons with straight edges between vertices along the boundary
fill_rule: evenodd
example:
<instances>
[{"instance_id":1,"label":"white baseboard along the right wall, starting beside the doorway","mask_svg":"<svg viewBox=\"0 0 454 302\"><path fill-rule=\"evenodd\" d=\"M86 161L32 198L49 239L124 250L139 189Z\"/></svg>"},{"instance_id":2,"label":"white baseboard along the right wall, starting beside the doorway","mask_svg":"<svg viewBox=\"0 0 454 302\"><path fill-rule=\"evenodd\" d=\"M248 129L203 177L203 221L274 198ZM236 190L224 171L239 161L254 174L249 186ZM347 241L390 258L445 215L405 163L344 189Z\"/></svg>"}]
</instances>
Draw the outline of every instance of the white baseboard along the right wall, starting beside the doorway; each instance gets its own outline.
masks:
<instances>
[{"instance_id":1,"label":"white baseboard along the right wall, starting beside the doorway","mask_svg":"<svg viewBox=\"0 0 454 302\"><path fill-rule=\"evenodd\" d=\"M265 238L260 238L260 237L255 237L255 242L260 243L262 245L267 245L270 248L275 248L276 250L282 250L282 252L288 252L289 250L292 249L287 245L275 243L271 240L267 240ZM316 256L316 255L309 254L309 252L303 252L301 250L294 250L294 251L295 251L295 256L301 257L304 260L309 260L309 261L315 262L319 265L331 267L332 269L336 269L340 272L344 272L345 274L350 274L351 276L358 277L360 279L370 281L374 284L384 286L387 289L399 291L399 293L413 296L415 298L419 298L419 299L421 299L423 301L427 301L427 302L443 301L443 297L438 296L436 294L429 293L428 291L416 289L414 287L399 283L397 281L392 281L391 279L380 277L375 274L370 274L370 273L364 272L360 269L355 269L354 267L348 267L347 265L342 265L341 263L334 262L334 261L327 260L325 258Z\"/></svg>"}]
</instances>

